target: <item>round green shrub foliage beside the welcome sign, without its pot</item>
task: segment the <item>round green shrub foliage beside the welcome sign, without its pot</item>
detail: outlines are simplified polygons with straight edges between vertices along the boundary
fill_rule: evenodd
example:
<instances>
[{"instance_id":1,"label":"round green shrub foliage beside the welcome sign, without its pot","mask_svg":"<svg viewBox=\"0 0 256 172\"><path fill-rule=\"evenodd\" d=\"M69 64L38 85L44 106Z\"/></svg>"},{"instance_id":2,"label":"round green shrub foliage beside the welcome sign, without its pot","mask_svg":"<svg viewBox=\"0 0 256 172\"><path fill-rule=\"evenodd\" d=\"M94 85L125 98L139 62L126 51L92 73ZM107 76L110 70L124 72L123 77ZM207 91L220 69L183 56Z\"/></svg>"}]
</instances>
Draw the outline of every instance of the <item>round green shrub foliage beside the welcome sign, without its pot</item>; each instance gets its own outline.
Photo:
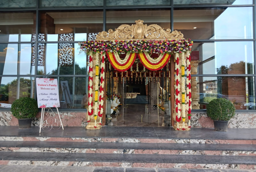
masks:
<instances>
[{"instance_id":1,"label":"round green shrub foliage beside the welcome sign, without its pot","mask_svg":"<svg viewBox=\"0 0 256 172\"><path fill-rule=\"evenodd\" d=\"M17 119L34 118L38 111L37 101L29 97L19 98L12 103L11 111Z\"/></svg>"}]
</instances>

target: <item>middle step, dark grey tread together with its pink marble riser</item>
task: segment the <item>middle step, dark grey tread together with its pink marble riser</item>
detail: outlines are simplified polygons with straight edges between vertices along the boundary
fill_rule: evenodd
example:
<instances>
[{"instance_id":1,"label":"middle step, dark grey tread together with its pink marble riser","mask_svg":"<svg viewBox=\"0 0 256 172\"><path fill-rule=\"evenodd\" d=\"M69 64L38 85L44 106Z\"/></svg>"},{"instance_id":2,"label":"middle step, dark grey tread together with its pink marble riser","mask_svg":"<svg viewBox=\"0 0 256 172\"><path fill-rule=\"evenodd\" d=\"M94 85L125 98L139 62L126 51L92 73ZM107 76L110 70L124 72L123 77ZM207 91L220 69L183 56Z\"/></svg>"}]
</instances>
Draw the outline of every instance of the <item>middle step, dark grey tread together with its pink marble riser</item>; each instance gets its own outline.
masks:
<instances>
[{"instance_id":1,"label":"middle step, dark grey tread together with its pink marble riser","mask_svg":"<svg viewBox=\"0 0 256 172\"><path fill-rule=\"evenodd\" d=\"M256 156L255 144L108 143L64 141L0 141L0 151L107 153L107 154L187 154Z\"/></svg>"}]
</instances>

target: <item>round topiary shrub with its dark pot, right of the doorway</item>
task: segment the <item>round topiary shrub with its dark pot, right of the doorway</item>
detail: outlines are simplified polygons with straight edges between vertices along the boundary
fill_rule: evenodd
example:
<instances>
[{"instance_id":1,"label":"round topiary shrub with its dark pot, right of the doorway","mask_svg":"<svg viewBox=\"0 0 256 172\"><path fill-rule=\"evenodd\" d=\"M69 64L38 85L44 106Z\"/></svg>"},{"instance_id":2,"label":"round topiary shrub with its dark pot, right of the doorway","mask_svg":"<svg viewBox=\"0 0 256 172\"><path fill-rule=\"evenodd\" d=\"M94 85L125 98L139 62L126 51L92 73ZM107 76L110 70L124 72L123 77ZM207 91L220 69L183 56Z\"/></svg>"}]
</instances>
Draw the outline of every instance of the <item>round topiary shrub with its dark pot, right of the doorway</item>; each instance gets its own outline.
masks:
<instances>
[{"instance_id":1,"label":"round topiary shrub with its dark pot, right of the doorway","mask_svg":"<svg viewBox=\"0 0 256 172\"><path fill-rule=\"evenodd\" d=\"M225 98L213 99L207 105L207 115L213 120L216 131L226 132L228 121L234 117L234 114L234 104Z\"/></svg>"}]
</instances>

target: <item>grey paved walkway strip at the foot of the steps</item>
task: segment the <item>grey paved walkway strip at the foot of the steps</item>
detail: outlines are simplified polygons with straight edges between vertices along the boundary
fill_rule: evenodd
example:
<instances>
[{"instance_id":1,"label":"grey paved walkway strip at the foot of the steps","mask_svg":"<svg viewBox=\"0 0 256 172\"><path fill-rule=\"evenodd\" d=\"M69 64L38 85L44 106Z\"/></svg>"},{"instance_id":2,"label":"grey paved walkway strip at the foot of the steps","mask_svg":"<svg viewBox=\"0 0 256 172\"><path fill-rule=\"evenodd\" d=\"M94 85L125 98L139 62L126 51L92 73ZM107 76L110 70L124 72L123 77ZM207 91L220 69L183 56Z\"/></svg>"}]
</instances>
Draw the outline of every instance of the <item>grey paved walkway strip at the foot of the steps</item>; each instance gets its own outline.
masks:
<instances>
[{"instance_id":1,"label":"grey paved walkway strip at the foot of the steps","mask_svg":"<svg viewBox=\"0 0 256 172\"><path fill-rule=\"evenodd\" d=\"M256 172L256 170L0 165L0 172Z\"/></svg>"}]
</instances>

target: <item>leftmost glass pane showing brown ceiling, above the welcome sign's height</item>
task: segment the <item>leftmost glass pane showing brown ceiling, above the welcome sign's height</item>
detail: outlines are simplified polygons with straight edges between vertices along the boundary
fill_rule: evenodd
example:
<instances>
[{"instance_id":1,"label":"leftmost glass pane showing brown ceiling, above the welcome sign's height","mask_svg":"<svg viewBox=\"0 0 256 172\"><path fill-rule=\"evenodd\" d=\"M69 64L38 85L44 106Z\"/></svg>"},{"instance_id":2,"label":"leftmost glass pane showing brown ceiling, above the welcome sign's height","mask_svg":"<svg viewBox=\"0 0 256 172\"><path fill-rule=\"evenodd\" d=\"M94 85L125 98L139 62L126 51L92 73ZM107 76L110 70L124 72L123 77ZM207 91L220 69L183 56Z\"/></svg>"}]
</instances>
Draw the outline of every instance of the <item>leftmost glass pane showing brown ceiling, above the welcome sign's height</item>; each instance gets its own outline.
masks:
<instances>
[{"instance_id":1,"label":"leftmost glass pane showing brown ceiling, above the welcome sign's height","mask_svg":"<svg viewBox=\"0 0 256 172\"><path fill-rule=\"evenodd\" d=\"M35 17L35 12L0 13L1 42L35 41Z\"/></svg>"}]
</instances>

